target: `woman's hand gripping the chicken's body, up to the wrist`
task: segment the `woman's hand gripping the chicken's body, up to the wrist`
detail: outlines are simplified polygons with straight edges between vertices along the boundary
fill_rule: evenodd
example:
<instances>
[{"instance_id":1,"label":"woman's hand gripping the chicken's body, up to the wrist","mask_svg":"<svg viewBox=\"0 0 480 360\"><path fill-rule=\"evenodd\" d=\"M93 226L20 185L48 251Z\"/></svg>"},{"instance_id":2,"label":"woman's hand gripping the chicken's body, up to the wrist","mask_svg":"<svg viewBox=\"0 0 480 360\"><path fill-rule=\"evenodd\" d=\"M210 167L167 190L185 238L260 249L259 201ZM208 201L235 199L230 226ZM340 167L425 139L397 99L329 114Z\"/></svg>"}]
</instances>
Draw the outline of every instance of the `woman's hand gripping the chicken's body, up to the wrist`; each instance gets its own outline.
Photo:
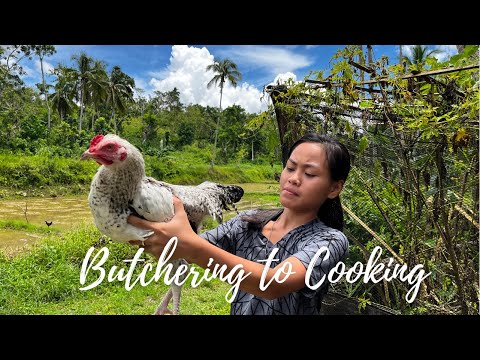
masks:
<instances>
[{"instance_id":1,"label":"woman's hand gripping the chicken's body, up to the wrist","mask_svg":"<svg viewBox=\"0 0 480 360\"><path fill-rule=\"evenodd\" d=\"M129 241L132 245L139 245L148 252L159 258L168 241L176 236L178 238L177 248L172 256L173 259L188 258L195 249L196 237L198 235L192 230L188 221L187 213L182 201L176 196L173 197L174 216L169 222L154 222L130 215L127 221L141 229L152 230L153 235L149 236L142 244L139 240Z\"/></svg>"}]
</instances>

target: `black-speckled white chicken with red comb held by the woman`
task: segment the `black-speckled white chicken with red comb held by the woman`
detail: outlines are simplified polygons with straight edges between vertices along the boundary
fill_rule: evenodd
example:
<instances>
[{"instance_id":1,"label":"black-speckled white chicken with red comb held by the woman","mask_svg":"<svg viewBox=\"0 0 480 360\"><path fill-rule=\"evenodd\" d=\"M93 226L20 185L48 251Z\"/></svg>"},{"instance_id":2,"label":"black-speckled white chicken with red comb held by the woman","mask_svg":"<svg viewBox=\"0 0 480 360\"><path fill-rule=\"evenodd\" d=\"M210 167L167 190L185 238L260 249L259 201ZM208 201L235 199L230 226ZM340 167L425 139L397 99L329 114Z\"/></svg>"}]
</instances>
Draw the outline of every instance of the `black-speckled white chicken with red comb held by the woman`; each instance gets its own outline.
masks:
<instances>
[{"instance_id":1,"label":"black-speckled white chicken with red comb held by the woman","mask_svg":"<svg viewBox=\"0 0 480 360\"><path fill-rule=\"evenodd\" d=\"M102 165L93 177L88 204L96 227L116 242L144 241L152 234L127 223L134 214L150 221L169 221L174 215L172 196L182 200L190 225L198 233L207 216L219 223L223 210L238 202L243 189L205 181L197 186L173 185L145 175L140 151L117 135L95 136L82 160L94 159ZM184 259L172 261L174 270ZM181 286L172 283L154 314L179 313ZM168 303L173 297L173 311Z\"/></svg>"}]
</instances>

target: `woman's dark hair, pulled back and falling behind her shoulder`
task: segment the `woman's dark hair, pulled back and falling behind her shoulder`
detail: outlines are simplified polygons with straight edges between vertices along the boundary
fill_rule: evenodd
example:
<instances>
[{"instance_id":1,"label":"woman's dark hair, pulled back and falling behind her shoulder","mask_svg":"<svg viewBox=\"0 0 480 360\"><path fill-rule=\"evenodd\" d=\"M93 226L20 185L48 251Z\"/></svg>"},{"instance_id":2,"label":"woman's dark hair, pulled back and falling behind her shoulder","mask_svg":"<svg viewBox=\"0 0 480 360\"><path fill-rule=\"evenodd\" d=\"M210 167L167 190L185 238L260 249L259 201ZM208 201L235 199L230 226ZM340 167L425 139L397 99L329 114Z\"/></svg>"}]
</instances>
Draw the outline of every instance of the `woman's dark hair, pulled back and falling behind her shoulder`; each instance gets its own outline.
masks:
<instances>
[{"instance_id":1,"label":"woman's dark hair, pulled back and falling behind her shoulder","mask_svg":"<svg viewBox=\"0 0 480 360\"><path fill-rule=\"evenodd\" d=\"M317 143L322 144L327 155L328 168L330 170L330 177L333 181L346 181L348 173L350 172L350 153L342 143L328 137L316 133L307 133L298 139L290 148L288 157L292 154L295 148L303 143ZM262 226L277 217L282 210L267 210L258 212L259 216L244 217L245 221ZM255 214L256 215L256 214ZM334 199L327 199L318 210L317 217L327 226L343 231L343 210L340 203L340 197Z\"/></svg>"}]
</instances>

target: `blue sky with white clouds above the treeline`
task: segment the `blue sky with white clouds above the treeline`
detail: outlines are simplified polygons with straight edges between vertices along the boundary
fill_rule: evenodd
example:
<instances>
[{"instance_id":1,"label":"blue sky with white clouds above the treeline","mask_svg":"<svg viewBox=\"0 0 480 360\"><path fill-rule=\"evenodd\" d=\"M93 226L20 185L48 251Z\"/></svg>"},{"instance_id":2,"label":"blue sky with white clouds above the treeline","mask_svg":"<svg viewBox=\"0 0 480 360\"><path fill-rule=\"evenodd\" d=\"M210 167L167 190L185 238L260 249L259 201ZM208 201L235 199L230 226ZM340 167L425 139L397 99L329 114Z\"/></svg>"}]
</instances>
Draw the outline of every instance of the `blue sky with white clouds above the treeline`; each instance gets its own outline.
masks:
<instances>
[{"instance_id":1,"label":"blue sky with white clouds above the treeline","mask_svg":"<svg viewBox=\"0 0 480 360\"><path fill-rule=\"evenodd\" d=\"M413 45L404 45L405 55ZM218 106L218 88L206 88L213 73L205 68L214 57L229 58L238 65L242 80L236 88L227 85L224 89L222 107L238 104L249 113L258 113L267 108L262 99L264 86L277 79L290 77L303 80L310 71L329 69L329 61L344 45L56 45L57 53L45 59L47 69L59 63L72 65L71 56L84 51L87 55L114 65L135 79L143 96L155 90L170 91L177 87L183 104ZM440 60L456 54L455 45L432 45L439 49ZM391 62L398 61L398 45L373 45L374 61L387 55ZM22 61L27 71L24 81L28 85L40 82L38 60ZM47 81L53 81L47 78Z\"/></svg>"}]
</instances>

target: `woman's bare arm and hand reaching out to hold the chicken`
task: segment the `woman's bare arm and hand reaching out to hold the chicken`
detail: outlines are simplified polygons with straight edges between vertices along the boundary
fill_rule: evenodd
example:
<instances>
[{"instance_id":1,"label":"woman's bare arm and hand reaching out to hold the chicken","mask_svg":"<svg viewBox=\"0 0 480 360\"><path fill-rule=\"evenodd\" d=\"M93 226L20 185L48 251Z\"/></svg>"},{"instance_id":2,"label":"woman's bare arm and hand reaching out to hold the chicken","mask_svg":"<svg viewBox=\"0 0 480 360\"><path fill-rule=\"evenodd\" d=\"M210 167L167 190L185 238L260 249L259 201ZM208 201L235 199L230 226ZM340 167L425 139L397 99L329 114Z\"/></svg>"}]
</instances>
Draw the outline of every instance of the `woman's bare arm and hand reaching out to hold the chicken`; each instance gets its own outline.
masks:
<instances>
[{"instance_id":1,"label":"woman's bare arm and hand reaching out to hold the chicken","mask_svg":"<svg viewBox=\"0 0 480 360\"><path fill-rule=\"evenodd\" d=\"M167 242L176 236L178 243L173 258L184 258L188 262L195 263L204 269L208 267L210 258L212 258L213 263L210 264L211 268L213 268L215 264L226 265L227 272L240 264L245 273L250 273L250 275L241 282L240 289L250 294L265 299L276 299L305 287L305 266L300 260L292 256L278 264L275 268L268 268L266 276L264 276L263 285L269 284L269 286L262 291L260 285L262 273L265 269L264 263L260 264L246 260L205 241L205 239L192 230L180 199L174 197L173 206L175 208L175 215L172 220L166 223L147 221L135 216L128 218L130 224L154 232L154 234L145 241L145 252L152 254L158 259ZM140 241L131 241L130 243L133 245L141 245ZM287 262L291 265L286 264ZM279 281L284 280L285 274L280 270L282 268L290 270L290 275L287 279L283 282L272 281L277 271L277 279Z\"/></svg>"}]
</instances>

